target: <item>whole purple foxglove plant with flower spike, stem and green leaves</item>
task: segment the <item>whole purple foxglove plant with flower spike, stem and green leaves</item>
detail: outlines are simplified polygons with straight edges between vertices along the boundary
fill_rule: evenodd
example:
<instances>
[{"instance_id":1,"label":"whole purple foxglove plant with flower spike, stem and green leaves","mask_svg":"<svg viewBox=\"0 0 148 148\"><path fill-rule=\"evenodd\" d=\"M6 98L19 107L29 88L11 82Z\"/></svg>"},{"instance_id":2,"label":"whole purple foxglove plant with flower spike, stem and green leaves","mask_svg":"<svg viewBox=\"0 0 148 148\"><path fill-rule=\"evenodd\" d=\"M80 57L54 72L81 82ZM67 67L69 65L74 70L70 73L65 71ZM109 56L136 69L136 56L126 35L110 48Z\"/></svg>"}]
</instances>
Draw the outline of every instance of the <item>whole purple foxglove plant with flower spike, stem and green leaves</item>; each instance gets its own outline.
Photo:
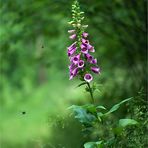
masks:
<instances>
[{"instance_id":1,"label":"whole purple foxglove plant with flower spike, stem and green leaves","mask_svg":"<svg viewBox=\"0 0 148 148\"><path fill-rule=\"evenodd\" d=\"M90 82L92 82L93 74L100 74L100 68L97 64L97 59L93 56L95 53L94 47L90 44L88 40L89 34L86 32L86 28L88 25L83 24L84 20L84 12L80 11L79 3L77 0L74 1L72 5L72 20L69 24L72 26L71 30L68 30L70 34L69 39L73 42L67 48L67 55L70 61L69 64L69 79L79 78L82 83L81 85L87 85L86 91L90 93L93 104L86 104L82 106L72 105L69 107L73 109L75 112L75 118L79 120L84 126L84 132L86 131L90 135L96 131L96 125L104 126L108 128L108 133L110 133L110 127L107 123L109 121L105 121L107 117L118 110L118 108L125 102L131 100L131 98L125 99L118 104L115 104L110 110L104 106L96 105L94 102L93 92L96 90L96 86L93 84L92 87ZM118 128L125 128L128 125L137 125L138 122L133 119L120 119ZM105 132L107 131L105 130ZM111 131L114 135L113 137L109 137L110 139L105 139L104 136L97 136L96 142L87 142L84 144L85 148L102 148L102 147L115 147L117 133ZM99 132L98 132L99 134ZM118 133L119 136L121 133Z\"/></svg>"}]
</instances>

